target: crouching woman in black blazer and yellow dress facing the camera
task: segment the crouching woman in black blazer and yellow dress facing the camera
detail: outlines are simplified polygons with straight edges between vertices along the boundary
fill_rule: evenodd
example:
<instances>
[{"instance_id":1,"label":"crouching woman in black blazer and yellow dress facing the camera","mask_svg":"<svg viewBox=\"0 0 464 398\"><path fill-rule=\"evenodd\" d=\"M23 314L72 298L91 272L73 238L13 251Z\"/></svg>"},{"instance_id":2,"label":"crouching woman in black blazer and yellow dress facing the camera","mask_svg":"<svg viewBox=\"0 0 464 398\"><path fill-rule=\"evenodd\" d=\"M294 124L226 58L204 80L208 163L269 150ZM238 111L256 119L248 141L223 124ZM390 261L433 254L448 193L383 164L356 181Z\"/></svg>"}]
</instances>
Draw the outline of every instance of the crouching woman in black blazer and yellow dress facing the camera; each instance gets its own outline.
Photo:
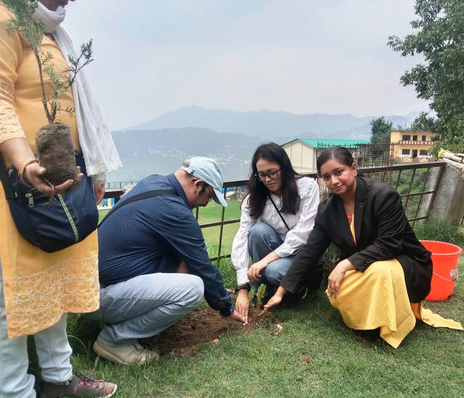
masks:
<instances>
[{"instance_id":1,"label":"crouching woman in black blazer and yellow dress facing the camera","mask_svg":"<svg viewBox=\"0 0 464 398\"><path fill-rule=\"evenodd\" d=\"M431 253L410 227L400 195L387 184L357 176L346 148L325 150L317 167L333 194L319 206L306 245L261 314L278 305L287 291L297 292L334 243L341 253L329 276L332 306L349 327L380 328L380 336L396 348L415 318L421 318L421 302L430 291Z\"/></svg>"}]
</instances>

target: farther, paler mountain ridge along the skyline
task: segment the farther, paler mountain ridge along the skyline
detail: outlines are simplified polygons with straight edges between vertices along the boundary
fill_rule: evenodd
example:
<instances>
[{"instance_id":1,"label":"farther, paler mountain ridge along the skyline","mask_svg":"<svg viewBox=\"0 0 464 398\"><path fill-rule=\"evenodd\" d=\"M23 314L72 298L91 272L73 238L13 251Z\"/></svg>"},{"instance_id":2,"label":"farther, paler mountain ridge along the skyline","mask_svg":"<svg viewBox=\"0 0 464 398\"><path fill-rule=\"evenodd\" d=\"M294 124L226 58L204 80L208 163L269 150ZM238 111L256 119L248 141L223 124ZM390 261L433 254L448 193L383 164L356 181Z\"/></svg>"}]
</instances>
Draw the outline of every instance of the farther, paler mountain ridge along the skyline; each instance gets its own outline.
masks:
<instances>
[{"instance_id":1,"label":"farther, paler mountain ridge along the skyline","mask_svg":"<svg viewBox=\"0 0 464 398\"><path fill-rule=\"evenodd\" d=\"M409 125L419 112L406 116L390 115L393 125ZM267 110L236 112L228 109L206 109L198 106L181 108L125 130L156 130L200 127L218 133L236 133L250 137L346 138L368 139L369 122L377 116L356 117L351 114L322 113L300 115Z\"/></svg>"}]
</instances>

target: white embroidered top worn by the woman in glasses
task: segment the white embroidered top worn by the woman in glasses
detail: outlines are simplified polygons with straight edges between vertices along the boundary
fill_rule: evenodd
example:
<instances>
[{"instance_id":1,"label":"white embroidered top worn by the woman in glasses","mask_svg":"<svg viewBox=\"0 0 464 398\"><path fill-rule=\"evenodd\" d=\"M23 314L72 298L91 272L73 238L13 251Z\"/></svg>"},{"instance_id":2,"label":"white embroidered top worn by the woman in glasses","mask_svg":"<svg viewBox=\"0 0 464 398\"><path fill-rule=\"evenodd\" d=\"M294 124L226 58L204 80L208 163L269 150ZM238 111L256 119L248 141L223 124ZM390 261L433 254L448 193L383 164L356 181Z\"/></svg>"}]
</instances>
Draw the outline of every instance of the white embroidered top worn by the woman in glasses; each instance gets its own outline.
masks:
<instances>
[{"instance_id":1,"label":"white embroidered top worn by the woman in glasses","mask_svg":"<svg viewBox=\"0 0 464 398\"><path fill-rule=\"evenodd\" d=\"M261 222L265 222L271 226L283 240L283 243L274 251L280 258L296 254L301 246L306 243L309 233L314 227L314 219L318 212L318 184L312 178L302 177L297 179L297 187L301 198L297 214L284 214L281 212L290 231L285 227L269 198L267 198L264 211L259 217ZM248 253L248 233L251 227L258 222L258 219L251 218L250 216L250 209L248 207L249 197L247 196L241 205L240 228L232 243L231 257L232 264L237 272L238 285L249 282L247 276L250 257ZM271 194L271 197L277 208L280 209L280 197L274 194Z\"/></svg>"}]
</instances>

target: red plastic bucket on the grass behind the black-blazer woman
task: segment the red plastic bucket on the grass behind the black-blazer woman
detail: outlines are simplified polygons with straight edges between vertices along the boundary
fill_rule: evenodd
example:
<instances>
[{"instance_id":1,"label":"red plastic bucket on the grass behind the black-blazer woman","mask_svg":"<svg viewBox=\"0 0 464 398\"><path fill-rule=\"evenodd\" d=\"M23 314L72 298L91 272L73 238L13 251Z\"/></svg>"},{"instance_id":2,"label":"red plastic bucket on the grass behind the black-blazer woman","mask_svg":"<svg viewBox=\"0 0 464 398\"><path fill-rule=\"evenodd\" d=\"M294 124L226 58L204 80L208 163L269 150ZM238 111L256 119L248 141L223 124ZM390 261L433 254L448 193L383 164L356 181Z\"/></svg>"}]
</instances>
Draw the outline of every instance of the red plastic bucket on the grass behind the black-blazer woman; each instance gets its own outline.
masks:
<instances>
[{"instance_id":1,"label":"red plastic bucket on the grass behind the black-blazer woman","mask_svg":"<svg viewBox=\"0 0 464 398\"><path fill-rule=\"evenodd\" d=\"M435 240L421 240L424 247L432 252L433 275L430 293L425 300L443 301L453 294L457 279L457 261L462 249L451 243Z\"/></svg>"}]
</instances>

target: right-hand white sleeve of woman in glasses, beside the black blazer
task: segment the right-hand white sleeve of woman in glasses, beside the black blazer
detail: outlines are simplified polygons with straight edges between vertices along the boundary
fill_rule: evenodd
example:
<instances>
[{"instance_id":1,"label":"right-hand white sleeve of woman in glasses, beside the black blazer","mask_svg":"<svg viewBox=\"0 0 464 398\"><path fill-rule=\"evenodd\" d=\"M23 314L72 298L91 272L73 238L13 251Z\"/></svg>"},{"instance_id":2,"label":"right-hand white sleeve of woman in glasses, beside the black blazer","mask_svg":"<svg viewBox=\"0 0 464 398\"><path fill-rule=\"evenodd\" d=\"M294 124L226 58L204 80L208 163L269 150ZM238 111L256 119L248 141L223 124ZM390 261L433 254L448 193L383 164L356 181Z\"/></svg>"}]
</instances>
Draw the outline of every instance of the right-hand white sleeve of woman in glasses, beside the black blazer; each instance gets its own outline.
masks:
<instances>
[{"instance_id":1,"label":"right-hand white sleeve of woman in glasses, beside the black blazer","mask_svg":"<svg viewBox=\"0 0 464 398\"><path fill-rule=\"evenodd\" d=\"M319 187L314 180L307 180L308 182L305 182L305 184L309 183L311 185L305 194L301 195L300 217L297 225L287 232L284 242L274 251L281 258L298 252L301 246L307 242L308 236L314 227L314 219L318 213L320 202Z\"/></svg>"}]
</instances>

